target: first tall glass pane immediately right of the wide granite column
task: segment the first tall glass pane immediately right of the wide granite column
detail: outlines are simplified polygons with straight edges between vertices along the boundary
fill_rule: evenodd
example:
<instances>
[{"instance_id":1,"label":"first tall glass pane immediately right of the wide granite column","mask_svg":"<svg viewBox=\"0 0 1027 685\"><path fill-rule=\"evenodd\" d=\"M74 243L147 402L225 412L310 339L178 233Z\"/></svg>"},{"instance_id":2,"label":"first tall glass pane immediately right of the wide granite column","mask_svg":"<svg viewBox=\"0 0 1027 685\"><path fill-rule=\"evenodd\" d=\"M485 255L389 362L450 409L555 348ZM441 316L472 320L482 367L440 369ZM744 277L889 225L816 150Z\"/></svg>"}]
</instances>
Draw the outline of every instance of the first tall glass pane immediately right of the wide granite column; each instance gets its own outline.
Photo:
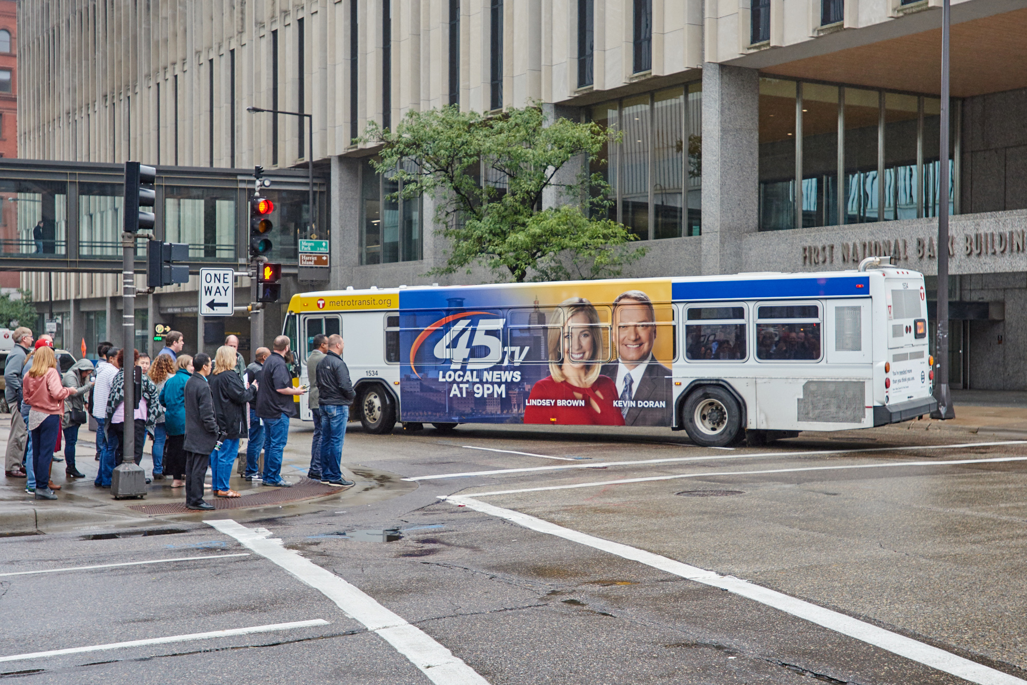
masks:
<instances>
[{"instance_id":1,"label":"first tall glass pane immediately right of the wide granite column","mask_svg":"<svg viewBox=\"0 0 1027 685\"><path fill-rule=\"evenodd\" d=\"M795 81L760 79L760 230L795 228Z\"/></svg>"}]
</instances>

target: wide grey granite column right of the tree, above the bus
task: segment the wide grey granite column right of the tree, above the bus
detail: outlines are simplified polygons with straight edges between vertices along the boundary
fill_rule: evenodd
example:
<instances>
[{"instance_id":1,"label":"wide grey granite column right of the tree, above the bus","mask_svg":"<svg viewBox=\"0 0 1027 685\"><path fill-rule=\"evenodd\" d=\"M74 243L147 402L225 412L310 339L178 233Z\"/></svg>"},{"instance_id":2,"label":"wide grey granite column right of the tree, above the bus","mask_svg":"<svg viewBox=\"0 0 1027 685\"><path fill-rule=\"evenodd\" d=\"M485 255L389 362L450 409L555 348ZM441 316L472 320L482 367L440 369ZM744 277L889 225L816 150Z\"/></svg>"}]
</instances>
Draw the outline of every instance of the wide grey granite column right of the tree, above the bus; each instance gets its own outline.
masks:
<instances>
[{"instance_id":1,"label":"wide grey granite column right of the tree, above the bus","mask_svg":"<svg viewBox=\"0 0 1027 685\"><path fill-rule=\"evenodd\" d=\"M759 73L702 65L702 273L743 270L759 224Z\"/></svg>"}]
</instances>

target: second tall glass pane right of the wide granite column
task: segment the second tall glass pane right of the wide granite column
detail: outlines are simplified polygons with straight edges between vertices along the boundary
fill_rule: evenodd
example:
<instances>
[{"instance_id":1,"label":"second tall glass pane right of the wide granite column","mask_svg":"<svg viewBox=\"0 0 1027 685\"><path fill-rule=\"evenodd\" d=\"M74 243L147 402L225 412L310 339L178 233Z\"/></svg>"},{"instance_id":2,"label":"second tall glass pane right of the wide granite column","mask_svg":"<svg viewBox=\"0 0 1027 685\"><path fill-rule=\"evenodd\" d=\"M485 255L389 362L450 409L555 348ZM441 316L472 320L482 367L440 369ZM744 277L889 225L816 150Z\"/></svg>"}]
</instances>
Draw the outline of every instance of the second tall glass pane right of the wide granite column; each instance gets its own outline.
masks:
<instances>
[{"instance_id":1,"label":"second tall glass pane right of the wide granite column","mask_svg":"<svg viewBox=\"0 0 1027 685\"><path fill-rule=\"evenodd\" d=\"M838 86L802 84L802 225L838 223Z\"/></svg>"}]
</instances>

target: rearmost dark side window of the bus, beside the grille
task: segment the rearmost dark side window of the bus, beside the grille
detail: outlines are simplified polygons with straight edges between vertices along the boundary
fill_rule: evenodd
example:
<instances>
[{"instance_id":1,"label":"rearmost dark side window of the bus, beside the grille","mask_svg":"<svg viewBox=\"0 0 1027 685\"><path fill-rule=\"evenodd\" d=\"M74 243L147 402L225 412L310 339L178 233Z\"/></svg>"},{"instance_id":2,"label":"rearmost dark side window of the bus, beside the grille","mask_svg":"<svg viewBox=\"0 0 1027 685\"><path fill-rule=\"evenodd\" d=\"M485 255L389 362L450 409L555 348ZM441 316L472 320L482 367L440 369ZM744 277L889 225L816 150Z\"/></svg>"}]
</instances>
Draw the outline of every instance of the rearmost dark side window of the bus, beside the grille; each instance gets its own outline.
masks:
<instances>
[{"instance_id":1,"label":"rearmost dark side window of the bus, beside the grille","mask_svg":"<svg viewBox=\"0 0 1027 685\"><path fill-rule=\"evenodd\" d=\"M757 305L757 359L816 361L822 355L821 341L820 305Z\"/></svg>"}]
</instances>

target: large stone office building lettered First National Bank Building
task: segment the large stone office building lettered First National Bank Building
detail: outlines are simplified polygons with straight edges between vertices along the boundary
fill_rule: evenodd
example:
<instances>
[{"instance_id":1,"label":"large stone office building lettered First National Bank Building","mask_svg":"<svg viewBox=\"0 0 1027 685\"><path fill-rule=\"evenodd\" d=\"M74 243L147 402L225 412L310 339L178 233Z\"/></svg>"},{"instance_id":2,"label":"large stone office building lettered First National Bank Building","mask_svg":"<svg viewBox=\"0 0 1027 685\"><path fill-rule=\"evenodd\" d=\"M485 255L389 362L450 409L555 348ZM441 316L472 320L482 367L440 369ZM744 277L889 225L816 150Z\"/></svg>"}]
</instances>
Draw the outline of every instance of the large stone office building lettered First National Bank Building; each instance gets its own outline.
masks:
<instances>
[{"instance_id":1,"label":"large stone office building lettered First National Bank Building","mask_svg":"<svg viewBox=\"0 0 1027 685\"><path fill-rule=\"evenodd\" d=\"M952 386L1027 389L1027 5L953 0L949 159L940 6L23 0L20 87L34 97L18 100L18 151L240 175L312 158L332 268L324 282L287 278L284 306L303 291L490 280L424 275L447 251L433 199L391 200L376 148L352 141L411 110L538 102L621 134L593 170L650 246L624 275L842 270L887 255L928 275L931 302L948 250ZM251 105L312 114L312 146L305 124ZM948 245L936 243L942 202ZM43 282L23 275L37 301ZM78 297L54 288L54 310Z\"/></svg>"}]
</instances>

